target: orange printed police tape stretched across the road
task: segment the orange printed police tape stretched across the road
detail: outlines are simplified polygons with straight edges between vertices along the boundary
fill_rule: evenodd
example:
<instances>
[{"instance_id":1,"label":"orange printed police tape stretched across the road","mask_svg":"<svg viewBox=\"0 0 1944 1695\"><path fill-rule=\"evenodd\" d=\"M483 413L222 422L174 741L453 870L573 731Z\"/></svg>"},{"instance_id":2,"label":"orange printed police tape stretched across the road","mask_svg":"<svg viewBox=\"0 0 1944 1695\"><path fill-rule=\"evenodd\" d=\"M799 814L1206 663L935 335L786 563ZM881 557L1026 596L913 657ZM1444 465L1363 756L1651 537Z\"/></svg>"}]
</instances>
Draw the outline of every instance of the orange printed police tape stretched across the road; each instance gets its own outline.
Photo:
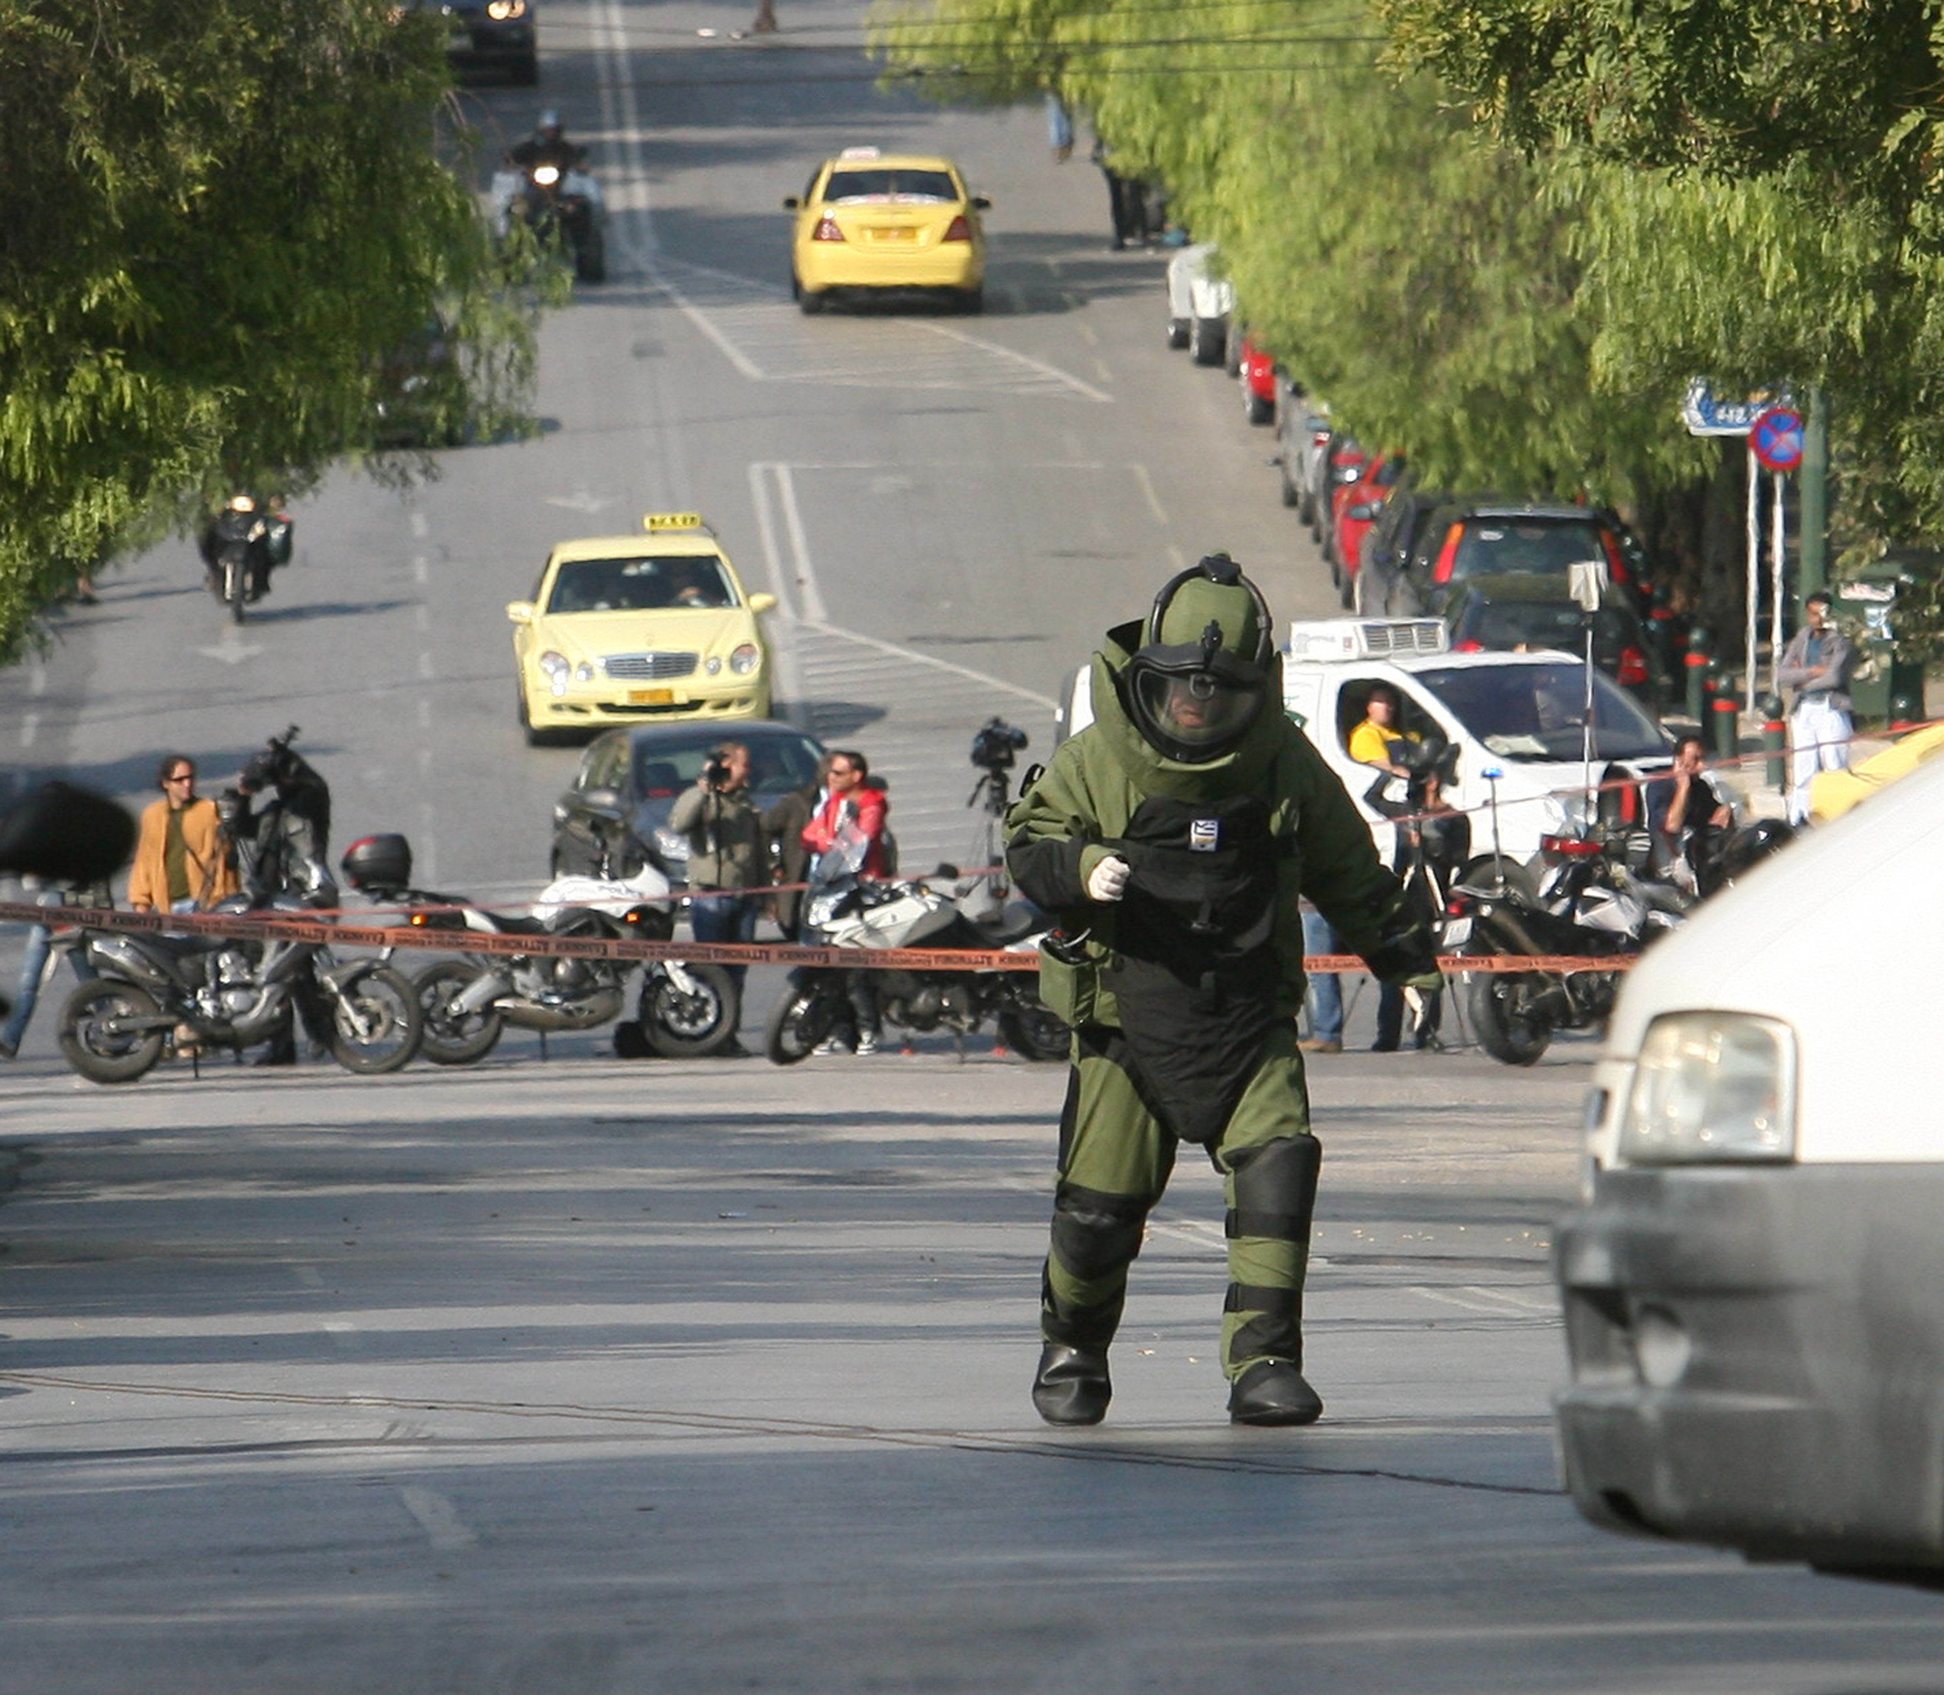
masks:
<instances>
[{"instance_id":1,"label":"orange printed police tape stretched across the road","mask_svg":"<svg viewBox=\"0 0 1944 1695\"><path fill-rule=\"evenodd\" d=\"M414 912L457 912L459 908L412 908ZM834 966L842 970L931 970L931 972L1036 972L1038 952L1007 949L931 947L801 947L797 943L704 943L704 941L608 941L573 935L494 935L472 929L430 929L418 925L338 923L325 917L259 917L239 912L97 912L93 908L27 906L0 902L0 923L45 923L51 929L115 929L167 935L220 935L239 941L313 941L338 947L428 949L434 952L546 954L550 958L595 960L684 960L713 966ZM1369 972L1357 954L1306 954L1310 972ZM1577 954L1444 954L1446 972L1617 972L1631 956L1582 958Z\"/></svg>"}]
</instances>

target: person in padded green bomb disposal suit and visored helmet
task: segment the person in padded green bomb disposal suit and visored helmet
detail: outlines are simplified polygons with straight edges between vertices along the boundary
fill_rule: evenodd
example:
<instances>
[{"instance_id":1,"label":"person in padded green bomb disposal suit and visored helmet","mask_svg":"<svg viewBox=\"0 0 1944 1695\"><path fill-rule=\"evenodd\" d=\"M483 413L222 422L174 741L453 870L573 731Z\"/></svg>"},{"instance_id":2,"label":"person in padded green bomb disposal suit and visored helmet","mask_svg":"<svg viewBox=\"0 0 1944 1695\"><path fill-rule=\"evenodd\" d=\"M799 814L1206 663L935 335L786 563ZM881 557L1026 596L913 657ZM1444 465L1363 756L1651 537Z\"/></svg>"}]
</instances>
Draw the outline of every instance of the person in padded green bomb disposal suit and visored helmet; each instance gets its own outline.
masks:
<instances>
[{"instance_id":1,"label":"person in padded green bomb disposal suit and visored helmet","mask_svg":"<svg viewBox=\"0 0 1944 1695\"><path fill-rule=\"evenodd\" d=\"M1297 1009L1299 896L1382 980L1439 986L1431 935L1343 785L1281 711L1269 610L1225 554L1093 661L1094 721L1007 814L1007 863L1065 933L1042 995L1073 1024L1032 1403L1098 1423L1106 1353L1178 1143L1223 1174L1229 1417L1308 1425L1302 1275L1322 1151Z\"/></svg>"}]
</instances>

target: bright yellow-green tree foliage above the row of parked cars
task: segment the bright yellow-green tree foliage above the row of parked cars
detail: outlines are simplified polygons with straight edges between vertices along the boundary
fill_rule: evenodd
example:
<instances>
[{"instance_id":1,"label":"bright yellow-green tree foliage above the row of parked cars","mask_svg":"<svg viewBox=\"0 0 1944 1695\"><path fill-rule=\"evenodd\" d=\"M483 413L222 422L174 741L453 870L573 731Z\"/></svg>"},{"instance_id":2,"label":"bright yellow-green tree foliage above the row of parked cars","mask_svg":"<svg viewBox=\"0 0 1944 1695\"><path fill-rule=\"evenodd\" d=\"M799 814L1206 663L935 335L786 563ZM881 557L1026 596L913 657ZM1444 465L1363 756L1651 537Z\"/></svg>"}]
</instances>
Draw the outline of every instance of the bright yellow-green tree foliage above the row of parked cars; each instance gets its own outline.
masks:
<instances>
[{"instance_id":1,"label":"bright yellow-green tree foliage above the row of parked cars","mask_svg":"<svg viewBox=\"0 0 1944 1695\"><path fill-rule=\"evenodd\" d=\"M885 12L892 66L947 97L1046 87L1213 239L1264 346L1421 478L1627 498L1697 474L1680 389L1602 395L1580 309L1584 179L1390 76L1341 0L939 0Z\"/></svg>"}]
</instances>

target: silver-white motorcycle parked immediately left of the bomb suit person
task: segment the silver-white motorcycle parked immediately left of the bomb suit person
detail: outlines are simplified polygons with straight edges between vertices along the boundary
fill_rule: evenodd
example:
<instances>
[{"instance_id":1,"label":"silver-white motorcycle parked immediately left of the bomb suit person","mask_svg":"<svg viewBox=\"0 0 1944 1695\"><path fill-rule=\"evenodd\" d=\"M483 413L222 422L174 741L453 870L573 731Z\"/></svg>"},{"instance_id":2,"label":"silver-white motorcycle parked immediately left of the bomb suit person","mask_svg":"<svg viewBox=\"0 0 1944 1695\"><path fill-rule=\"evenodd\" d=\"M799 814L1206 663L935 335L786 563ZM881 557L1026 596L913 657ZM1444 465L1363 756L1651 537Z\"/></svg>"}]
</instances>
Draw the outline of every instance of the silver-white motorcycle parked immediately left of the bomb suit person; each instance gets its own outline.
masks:
<instances>
[{"instance_id":1,"label":"silver-white motorcycle parked immediately left of the bomb suit person","mask_svg":"<svg viewBox=\"0 0 1944 1695\"><path fill-rule=\"evenodd\" d=\"M976 949L1036 954L1052 925L1026 902L1013 902L993 923L974 923L953 898L918 881L863 877L869 838L838 826L828 851L811 865L803 902L803 941L836 949ZM956 877L955 867L939 867ZM764 1052L778 1065L811 1055L850 1005L846 978L834 966L797 966L770 1013ZM896 1028L951 1030L962 1044L993 1019L1007 1046L1026 1059L1065 1059L1067 1026L1038 995L1038 976L1013 970L873 970L879 1017Z\"/></svg>"}]
</instances>

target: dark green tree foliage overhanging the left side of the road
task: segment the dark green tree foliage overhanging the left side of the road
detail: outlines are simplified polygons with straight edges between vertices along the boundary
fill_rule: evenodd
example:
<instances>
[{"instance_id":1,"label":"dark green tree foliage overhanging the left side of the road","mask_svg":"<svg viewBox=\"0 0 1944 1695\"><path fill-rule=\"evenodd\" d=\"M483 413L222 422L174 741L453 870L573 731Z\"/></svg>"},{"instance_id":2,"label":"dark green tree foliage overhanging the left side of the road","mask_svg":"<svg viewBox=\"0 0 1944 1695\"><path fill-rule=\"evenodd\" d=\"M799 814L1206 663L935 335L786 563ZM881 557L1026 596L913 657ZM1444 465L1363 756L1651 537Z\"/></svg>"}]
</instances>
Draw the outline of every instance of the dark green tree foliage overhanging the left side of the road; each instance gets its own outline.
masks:
<instances>
[{"instance_id":1,"label":"dark green tree foliage overhanging the left side of the road","mask_svg":"<svg viewBox=\"0 0 1944 1695\"><path fill-rule=\"evenodd\" d=\"M432 430L517 424L447 89L391 0L0 0L0 653L119 548L373 449L434 309L470 360Z\"/></svg>"}]
</instances>

